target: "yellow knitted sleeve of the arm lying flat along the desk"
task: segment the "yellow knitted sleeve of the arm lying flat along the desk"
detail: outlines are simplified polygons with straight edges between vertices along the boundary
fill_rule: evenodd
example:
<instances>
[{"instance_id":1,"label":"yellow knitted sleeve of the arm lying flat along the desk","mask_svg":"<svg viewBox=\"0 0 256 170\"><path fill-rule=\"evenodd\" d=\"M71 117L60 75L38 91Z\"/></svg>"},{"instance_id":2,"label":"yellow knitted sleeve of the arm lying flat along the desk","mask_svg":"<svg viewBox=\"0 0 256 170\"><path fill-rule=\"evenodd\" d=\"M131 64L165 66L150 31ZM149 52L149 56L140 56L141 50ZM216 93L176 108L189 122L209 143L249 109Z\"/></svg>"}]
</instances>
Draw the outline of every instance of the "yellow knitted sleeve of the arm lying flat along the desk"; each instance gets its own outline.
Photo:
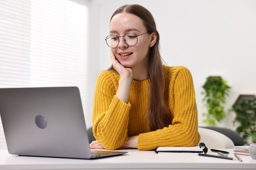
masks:
<instances>
[{"instance_id":1,"label":"yellow knitted sleeve of the arm lying flat along the desk","mask_svg":"<svg viewBox=\"0 0 256 170\"><path fill-rule=\"evenodd\" d=\"M192 75L186 67L176 67L171 73L169 105L173 114L172 124L163 129L141 133L139 150L152 150L159 146L196 146L198 133L198 111Z\"/></svg>"}]
</instances>

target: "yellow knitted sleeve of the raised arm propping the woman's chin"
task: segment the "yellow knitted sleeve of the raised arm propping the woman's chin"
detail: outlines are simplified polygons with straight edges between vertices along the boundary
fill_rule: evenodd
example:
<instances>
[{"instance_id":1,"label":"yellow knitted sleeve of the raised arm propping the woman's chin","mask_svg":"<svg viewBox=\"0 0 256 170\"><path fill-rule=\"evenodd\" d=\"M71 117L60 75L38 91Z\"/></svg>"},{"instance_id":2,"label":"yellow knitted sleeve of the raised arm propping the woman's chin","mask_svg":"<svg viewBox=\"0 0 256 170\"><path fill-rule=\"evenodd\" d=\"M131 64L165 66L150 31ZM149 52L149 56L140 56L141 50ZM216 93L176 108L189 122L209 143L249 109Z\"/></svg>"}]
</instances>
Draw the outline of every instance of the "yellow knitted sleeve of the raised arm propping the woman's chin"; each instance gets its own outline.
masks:
<instances>
[{"instance_id":1,"label":"yellow knitted sleeve of the raised arm propping the woman's chin","mask_svg":"<svg viewBox=\"0 0 256 170\"><path fill-rule=\"evenodd\" d=\"M128 140L130 103L116 97L118 76L110 71L102 72L96 81L93 104L93 134L108 150L116 150Z\"/></svg>"}]
</instances>

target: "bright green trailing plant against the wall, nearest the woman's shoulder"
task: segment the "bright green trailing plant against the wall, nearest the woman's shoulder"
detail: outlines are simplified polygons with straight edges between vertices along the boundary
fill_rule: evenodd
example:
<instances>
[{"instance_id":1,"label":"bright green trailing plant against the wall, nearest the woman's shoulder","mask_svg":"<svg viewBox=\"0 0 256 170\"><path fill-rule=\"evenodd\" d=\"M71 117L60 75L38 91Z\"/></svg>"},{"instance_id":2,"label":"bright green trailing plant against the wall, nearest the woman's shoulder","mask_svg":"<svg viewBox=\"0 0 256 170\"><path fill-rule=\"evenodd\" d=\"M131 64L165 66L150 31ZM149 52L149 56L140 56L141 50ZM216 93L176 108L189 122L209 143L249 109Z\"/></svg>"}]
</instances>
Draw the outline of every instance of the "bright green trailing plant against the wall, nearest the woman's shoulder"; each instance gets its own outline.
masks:
<instances>
[{"instance_id":1,"label":"bright green trailing plant against the wall, nearest the woman's shoulder","mask_svg":"<svg viewBox=\"0 0 256 170\"><path fill-rule=\"evenodd\" d=\"M221 76L208 76L203 84L203 105L207 112L203 112L203 122L215 126L216 121L220 122L226 116L224 103L229 95L230 86Z\"/></svg>"}]
</instances>

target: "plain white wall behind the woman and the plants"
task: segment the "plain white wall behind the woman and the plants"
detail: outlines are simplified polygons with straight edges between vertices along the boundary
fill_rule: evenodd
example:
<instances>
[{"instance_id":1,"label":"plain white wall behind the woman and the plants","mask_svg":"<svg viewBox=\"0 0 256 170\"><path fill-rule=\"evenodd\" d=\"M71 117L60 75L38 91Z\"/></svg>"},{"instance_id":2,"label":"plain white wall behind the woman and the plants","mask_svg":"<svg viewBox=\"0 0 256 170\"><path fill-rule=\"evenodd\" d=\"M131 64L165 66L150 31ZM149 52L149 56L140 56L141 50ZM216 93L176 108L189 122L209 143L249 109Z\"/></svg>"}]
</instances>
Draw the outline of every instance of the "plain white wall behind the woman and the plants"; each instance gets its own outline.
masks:
<instances>
[{"instance_id":1,"label":"plain white wall behind the woman and the plants","mask_svg":"<svg viewBox=\"0 0 256 170\"><path fill-rule=\"evenodd\" d=\"M167 65L184 65L192 72L200 126L204 125L201 92L207 76L223 76L232 87L226 109L239 94L256 94L256 1L93 0L90 109L96 76L111 64L109 48L104 41L109 32L110 16L117 7L132 3L143 5L152 12L160 32L161 56ZM87 111L88 114L92 112ZM218 126L231 128L233 120L234 113L228 114Z\"/></svg>"}]
</instances>

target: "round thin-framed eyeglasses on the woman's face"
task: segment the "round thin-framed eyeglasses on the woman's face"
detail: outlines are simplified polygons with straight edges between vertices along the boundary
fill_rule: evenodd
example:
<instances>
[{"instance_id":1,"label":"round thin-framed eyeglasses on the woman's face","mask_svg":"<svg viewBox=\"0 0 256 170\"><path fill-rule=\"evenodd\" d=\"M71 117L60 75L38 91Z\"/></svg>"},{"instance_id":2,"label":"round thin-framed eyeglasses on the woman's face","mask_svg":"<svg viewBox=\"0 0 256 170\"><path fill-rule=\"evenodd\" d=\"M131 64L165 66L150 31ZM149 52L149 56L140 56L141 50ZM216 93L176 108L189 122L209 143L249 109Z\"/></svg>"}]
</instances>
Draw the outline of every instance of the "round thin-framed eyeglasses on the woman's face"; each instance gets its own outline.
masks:
<instances>
[{"instance_id":1,"label":"round thin-framed eyeglasses on the woman's face","mask_svg":"<svg viewBox=\"0 0 256 170\"><path fill-rule=\"evenodd\" d=\"M142 33L140 35L144 35L146 33ZM138 37L140 35L136 35L135 33L126 33L123 36L117 36L117 35L108 35L105 39L106 44L110 47L110 48L115 48L118 46L120 40L120 37L123 37L123 40L125 41L125 43L129 46L135 46L138 42Z\"/></svg>"}]
</instances>

